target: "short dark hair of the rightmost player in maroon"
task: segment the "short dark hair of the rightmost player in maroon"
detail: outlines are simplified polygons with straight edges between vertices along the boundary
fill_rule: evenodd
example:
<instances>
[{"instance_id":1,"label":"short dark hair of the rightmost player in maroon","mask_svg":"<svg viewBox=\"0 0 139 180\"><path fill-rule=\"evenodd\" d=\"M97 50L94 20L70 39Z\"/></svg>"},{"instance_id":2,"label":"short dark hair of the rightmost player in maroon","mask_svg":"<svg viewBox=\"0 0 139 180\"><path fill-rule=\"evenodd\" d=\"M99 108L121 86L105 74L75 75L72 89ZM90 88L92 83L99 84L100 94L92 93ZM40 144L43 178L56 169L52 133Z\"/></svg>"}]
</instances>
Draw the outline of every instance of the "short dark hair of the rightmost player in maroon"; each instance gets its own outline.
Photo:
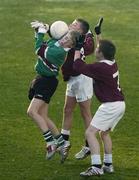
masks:
<instances>
[{"instance_id":1,"label":"short dark hair of the rightmost player in maroon","mask_svg":"<svg viewBox=\"0 0 139 180\"><path fill-rule=\"evenodd\" d=\"M106 39L99 41L99 51L103 53L105 59L113 60L116 53L115 45Z\"/></svg>"}]
</instances>

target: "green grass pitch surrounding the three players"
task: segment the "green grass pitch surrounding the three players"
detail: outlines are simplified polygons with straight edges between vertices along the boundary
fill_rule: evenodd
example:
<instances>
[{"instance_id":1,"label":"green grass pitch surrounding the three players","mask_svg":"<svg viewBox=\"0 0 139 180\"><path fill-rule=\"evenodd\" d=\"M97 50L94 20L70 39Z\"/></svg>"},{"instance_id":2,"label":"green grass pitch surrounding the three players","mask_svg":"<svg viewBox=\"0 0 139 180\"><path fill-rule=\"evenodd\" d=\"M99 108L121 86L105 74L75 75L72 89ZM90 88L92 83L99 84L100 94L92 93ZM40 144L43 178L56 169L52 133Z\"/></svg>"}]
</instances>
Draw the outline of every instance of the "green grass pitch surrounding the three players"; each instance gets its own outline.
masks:
<instances>
[{"instance_id":1,"label":"green grass pitch surrounding the three players","mask_svg":"<svg viewBox=\"0 0 139 180\"><path fill-rule=\"evenodd\" d=\"M84 125L74 112L68 160L45 160L40 131L27 117L29 82L35 76L34 19L71 23L81 17L93 29L104 17L103 37L117 46L120 82L126 97L126 114L112 133L115 173L90 179L139 179L139 1L138 0L0 0L0 180L79 180L90 158L74 159L83 145ZM87 58L91 62L94 57ZM66 84L60 83L50 104L50 117L61 127ZM98 102L92 101L92 113Z\"/></svg>"}]
</instances>

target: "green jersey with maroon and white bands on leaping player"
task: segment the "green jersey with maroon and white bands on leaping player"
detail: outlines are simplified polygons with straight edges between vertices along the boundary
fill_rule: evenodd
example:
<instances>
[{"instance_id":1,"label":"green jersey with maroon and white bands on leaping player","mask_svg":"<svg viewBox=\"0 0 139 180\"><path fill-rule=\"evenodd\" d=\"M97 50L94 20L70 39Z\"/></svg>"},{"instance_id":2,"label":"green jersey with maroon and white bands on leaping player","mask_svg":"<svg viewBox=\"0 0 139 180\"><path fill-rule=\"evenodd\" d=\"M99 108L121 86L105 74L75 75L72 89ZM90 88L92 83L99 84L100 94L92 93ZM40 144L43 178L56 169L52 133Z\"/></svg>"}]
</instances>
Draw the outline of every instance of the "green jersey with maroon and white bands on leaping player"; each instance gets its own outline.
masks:
<instances>
[{"instance_id":1,"label":"green jersey with maroon and white bands on leaping player","mask_svg":"<svg viewBox=\"0 0 139 180\"><path fill-rule=\"evenodd\" d=\"M61 47L57 40L50 39L44 42L44 34L38 33L35 43L38 60L35 70L43 76L57 76L60 66L64 63L66 50Z\"/></svg>"}]
</instances>

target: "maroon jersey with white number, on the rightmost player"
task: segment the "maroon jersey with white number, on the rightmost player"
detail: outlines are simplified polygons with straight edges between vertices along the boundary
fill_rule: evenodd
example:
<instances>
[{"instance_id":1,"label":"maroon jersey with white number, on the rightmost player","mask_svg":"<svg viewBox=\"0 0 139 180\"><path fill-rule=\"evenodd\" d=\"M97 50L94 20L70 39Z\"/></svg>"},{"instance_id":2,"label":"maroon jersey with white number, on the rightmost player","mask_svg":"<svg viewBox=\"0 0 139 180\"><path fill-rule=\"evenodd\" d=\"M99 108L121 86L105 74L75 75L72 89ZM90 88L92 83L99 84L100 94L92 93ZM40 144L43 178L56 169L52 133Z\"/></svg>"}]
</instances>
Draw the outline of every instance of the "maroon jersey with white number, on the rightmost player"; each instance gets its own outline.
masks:
<instances>
[{"instance_id":1,"label":"maroon jersey with white number, on the rightmost player","mask_svg":"<svg viewBox=\"0 0 139 180\"><path fill-rule=\"evenodd\" d=\"M77 59L73 68L77 72L93 78L94 92L100 102L124 101L115 61L102 60L93 64L86 64L81 59Z\"/></svg>"}]
</instances>

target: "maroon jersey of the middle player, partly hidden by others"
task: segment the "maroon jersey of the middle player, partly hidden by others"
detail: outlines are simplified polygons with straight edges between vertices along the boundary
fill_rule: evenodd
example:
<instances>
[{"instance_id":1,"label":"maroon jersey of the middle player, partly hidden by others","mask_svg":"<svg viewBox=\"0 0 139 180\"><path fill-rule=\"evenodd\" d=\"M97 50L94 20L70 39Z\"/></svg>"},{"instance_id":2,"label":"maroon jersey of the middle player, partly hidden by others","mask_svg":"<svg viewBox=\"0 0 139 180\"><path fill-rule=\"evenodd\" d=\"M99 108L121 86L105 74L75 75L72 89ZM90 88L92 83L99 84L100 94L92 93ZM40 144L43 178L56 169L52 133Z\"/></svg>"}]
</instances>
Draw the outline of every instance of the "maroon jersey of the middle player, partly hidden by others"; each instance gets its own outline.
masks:
<instances>
[{"instance_id":1,"label":"maroon jersey of the middle player, partly hidden by others","mask_svg":"<svg viewBox=\"0 0 139 180\"><path fill-rule=\"evenodd\" d=\"M81 49L81 58L85 60L85 56L90 55L94 52L94 37L92 33L87 33L83 48ZM78 76L80 73L73 69L75 49L71 49L68 52L66 60L62 65L63 79L66 81L70 76Z\"/></svg>"}]
</instances>

